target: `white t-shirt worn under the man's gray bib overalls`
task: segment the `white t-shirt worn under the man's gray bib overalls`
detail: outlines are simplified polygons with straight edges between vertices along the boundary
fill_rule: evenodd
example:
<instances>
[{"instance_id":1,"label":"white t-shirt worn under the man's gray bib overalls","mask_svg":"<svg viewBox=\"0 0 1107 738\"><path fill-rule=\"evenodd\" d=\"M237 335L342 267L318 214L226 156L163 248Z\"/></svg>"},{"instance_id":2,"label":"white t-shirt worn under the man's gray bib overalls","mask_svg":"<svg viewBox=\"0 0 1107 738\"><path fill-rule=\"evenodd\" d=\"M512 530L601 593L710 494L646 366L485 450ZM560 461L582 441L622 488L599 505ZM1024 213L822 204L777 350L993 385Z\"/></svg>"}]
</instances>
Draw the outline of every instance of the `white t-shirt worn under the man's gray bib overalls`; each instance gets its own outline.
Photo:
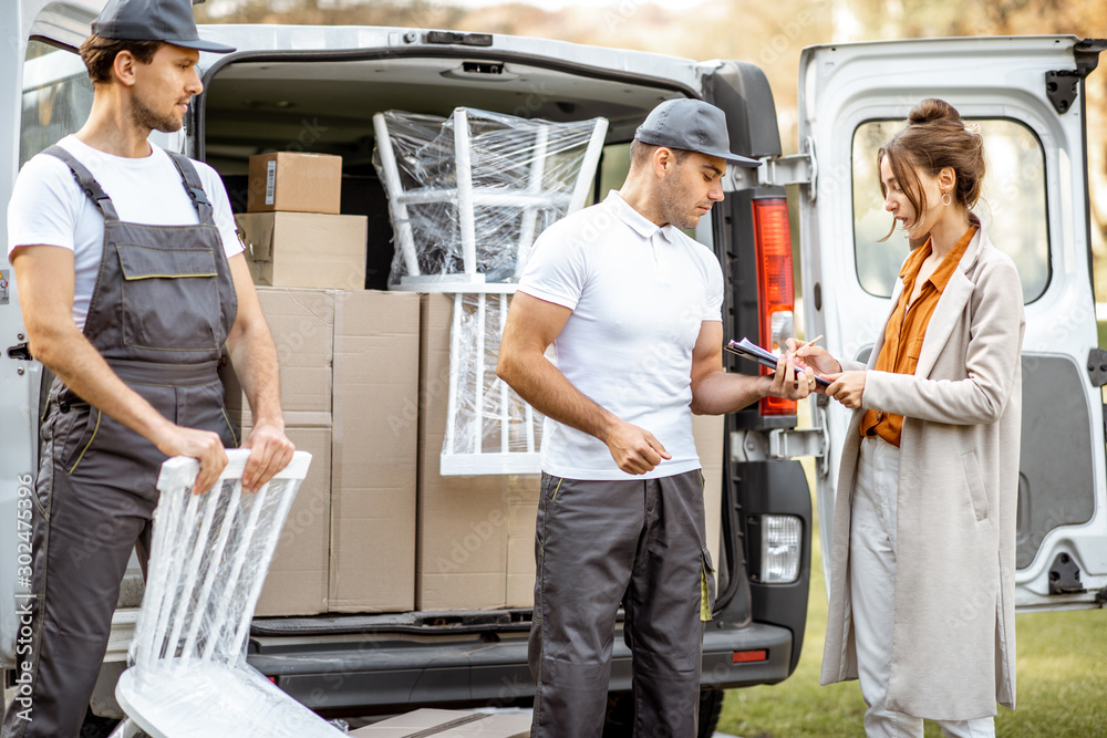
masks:
<instances>
[{"instance_id":1,"label":"white t-shirt worn under the man's gray bib overalls","mask_svg":"<svg viewBox=\"0 0 1107 738\"><path fill-rule=\"evenodd\" d=\"M169 155L151 144L153 153L134 159L113 156L66 136L58 144L76 157L112 198L121 220L148 226L190 226L199 222L193 200ZM215 169L194 162L213 218L230 258L242 251L235 230L227 190ZM73 321L84 330L89 303L104 249L104 216L77 186L56 156L39 154L20 169L8 202L8 259L21 246L58 246L73 251L76 281Z\"/></svg>"}]
</instances>

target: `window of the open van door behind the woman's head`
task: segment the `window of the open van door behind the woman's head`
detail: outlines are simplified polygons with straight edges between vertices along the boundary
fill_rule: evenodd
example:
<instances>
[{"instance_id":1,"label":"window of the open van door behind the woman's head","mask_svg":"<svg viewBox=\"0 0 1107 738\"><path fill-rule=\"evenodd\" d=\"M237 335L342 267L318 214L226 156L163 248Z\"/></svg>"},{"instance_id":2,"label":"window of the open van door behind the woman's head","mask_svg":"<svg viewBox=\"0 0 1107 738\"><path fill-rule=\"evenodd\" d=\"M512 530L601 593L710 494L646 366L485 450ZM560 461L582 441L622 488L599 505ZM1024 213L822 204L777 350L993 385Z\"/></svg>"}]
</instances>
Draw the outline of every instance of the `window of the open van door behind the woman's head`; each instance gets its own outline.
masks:
<instances>
[{"instance_id":1,"label":"window of the open van door behind the woman's head","mask_svg":"<svg viewBox=\"0 0 1107 738\"><path fill-rule=\"evenodd\" d=\"M1045 153L1024 124L981 119L987 174L976 211L989 225L989 239L1015 261L1023 301L1037 300L1049 283L1049 232L1045 200ZM880 195L877 150L904 127L902 121L869 121L853 132L853 256L866 292L890 297L908 254L902 231L884 237L892 225Z\"/></svg>"}]
</instances>

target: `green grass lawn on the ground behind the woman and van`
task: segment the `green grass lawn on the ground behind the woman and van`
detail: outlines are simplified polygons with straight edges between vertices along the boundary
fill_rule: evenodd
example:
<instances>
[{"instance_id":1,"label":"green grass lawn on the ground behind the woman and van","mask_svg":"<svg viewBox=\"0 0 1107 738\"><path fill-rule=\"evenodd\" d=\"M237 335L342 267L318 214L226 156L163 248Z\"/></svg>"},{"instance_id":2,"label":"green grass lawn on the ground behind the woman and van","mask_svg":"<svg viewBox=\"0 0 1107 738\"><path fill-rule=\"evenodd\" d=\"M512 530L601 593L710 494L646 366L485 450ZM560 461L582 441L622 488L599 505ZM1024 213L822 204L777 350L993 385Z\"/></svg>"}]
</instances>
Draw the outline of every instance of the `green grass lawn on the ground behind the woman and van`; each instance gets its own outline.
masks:
<instances>
[{"instance_id":1,"label":"green grass lawn on the ground behind the woman and van","mask_svg":"<svg viewBox=\"0 0 1107 738\"><path fill-rule=\"evenodd\" d=\"M826 586L816 528L807 632L799 665L782 684L728 692L720 731L743 738L863 734L865 703L857 682L819 686L826 619ZM1107 737L1107 612L1018 615L1015 638L1018 709L999 708L996 735ZM925 735L938 738L942 731L928 721Z\"/></svg>"}]
</instances>

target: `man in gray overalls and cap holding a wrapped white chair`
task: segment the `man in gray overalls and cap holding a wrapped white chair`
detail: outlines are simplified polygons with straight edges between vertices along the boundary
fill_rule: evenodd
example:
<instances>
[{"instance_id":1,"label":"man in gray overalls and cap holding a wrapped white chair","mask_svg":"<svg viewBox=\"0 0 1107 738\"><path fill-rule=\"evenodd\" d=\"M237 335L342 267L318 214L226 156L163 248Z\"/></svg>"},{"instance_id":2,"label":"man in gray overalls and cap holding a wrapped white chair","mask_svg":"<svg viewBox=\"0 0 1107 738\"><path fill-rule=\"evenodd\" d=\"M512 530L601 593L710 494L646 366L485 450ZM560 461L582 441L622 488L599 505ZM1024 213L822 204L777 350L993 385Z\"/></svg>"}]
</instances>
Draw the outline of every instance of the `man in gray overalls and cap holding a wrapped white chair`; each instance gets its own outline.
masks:
<instances>
[{"instance_id":1,"label":"man in gray overalls and cap holding a wrapped white chair","mask_svg":"<svg viewBox=\"0 0 1107 738\"><path fill-rule=\"evenodd\" d=\"M100 672L131 551L145 564L155 480L169 456L211 486L239 445L216 373L226 343L254 412L241 440L257 489L292 456L277 352L210 167L152 145L193 95L189 0L111 0L81 55L84 126L32 158L8 209L30 350L56 375L42 420L29 609L6 738L74 738Z\"/></svg>"}]
</instances>

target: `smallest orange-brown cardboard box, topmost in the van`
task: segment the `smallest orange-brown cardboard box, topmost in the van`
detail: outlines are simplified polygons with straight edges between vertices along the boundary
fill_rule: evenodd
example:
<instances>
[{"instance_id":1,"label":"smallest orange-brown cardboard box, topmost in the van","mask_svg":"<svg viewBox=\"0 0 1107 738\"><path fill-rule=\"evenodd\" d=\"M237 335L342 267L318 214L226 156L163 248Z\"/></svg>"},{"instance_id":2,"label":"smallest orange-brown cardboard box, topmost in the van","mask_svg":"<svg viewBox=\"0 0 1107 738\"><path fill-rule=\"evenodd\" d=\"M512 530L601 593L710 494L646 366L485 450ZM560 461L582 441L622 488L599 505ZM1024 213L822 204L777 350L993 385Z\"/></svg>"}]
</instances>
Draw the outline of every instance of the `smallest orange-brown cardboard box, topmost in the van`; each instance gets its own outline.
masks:
<instances>
[{"instance_id":1,"label":"smallest orange-brown cardboard box, topmost in the van","mask_svg":"<svg viewBox=\"0 0 1107 738\"><path fill-rule=\"evenodd\" d=\"M248 212L330 212L342 200L342 157L273 152L250 157Z\"/></svg>"}]
</instances>

